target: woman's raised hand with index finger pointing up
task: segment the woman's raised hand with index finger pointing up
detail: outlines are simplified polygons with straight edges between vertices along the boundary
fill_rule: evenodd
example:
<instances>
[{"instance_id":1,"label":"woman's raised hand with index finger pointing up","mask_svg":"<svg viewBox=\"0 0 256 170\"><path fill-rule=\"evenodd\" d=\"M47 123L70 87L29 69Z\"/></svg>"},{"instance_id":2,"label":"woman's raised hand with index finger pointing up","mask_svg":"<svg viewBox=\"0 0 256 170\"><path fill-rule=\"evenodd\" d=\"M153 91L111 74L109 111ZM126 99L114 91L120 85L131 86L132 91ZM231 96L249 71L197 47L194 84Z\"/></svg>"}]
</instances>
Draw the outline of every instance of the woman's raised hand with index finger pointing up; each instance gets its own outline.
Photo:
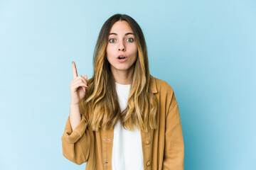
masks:
<instances>
[{"instance_id":1,"label":"woman's raised hand with index finger pointing up","mask_svg":"<svg viewBox=\"0 0 256 170\"><path fill-rule=\"evenodd\" d=\"M78 76L78 71L75 67L75 62L72 62L73 65L73 81L70 82L70 97L71 105L78 105L82 98L85 97L85 91L88 87L87 85L87 76L82 77Z\"/></svg>"}]
</instances>

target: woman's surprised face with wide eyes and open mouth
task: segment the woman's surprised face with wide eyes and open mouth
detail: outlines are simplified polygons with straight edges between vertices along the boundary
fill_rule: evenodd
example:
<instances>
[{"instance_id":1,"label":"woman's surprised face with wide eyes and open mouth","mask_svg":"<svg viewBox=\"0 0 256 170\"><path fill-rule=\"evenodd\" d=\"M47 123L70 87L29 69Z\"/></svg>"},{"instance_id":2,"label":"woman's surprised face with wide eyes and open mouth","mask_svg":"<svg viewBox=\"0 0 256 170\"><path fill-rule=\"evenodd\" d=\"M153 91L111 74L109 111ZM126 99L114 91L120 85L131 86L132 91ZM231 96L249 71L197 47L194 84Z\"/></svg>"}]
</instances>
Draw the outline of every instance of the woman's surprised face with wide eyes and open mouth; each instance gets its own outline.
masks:
<instances>
[{"instance_id":1,"label":"woman's surprised face with wide eyes and open mouth","mask_svg":"<svg viewBox=\"0 0 256 170\"><path fill-rule=\"evenodd\" d=\"M137 60L137 43L127 21L117 21L110 30L107 42L107 60L112 72L133 71Z\"/></svg>"}]
</instances>

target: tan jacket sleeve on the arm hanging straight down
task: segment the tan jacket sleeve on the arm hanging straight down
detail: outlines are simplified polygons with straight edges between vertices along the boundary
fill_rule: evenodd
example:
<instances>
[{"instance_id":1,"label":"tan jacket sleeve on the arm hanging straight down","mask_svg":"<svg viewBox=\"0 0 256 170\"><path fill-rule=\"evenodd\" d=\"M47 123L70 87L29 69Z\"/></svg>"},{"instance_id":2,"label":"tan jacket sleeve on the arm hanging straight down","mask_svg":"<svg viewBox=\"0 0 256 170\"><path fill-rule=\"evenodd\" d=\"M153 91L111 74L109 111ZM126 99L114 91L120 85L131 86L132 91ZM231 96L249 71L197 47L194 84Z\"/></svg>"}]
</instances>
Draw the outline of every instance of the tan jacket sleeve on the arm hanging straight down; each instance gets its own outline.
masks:
<instances>
[{"instance_id":1,"label":"tan jacket sleeve on the arm hanging straight down","mask_svg":"<svg viewBox=\"0 0 256 170\"><path fill-rule=\"evenodd\" d=\"M163 170L184 169L184 144L178 103L173 98L166 115Z\"/></svg>"}]
</instances>

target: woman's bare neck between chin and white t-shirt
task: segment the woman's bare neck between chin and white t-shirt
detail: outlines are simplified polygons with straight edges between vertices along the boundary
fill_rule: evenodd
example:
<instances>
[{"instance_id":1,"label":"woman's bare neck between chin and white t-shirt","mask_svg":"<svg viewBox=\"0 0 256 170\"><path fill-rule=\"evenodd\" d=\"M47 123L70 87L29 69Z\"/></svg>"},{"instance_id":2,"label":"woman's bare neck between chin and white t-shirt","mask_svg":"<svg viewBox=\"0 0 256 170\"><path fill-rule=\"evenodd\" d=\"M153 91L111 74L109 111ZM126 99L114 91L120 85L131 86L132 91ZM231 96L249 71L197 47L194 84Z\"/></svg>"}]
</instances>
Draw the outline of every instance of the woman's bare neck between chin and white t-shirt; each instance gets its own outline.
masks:
<instances>
[{"instance_id":1,"label":"woman's bare neck between chin and white t-shirt","mask_svg":"<svg viewBox=\"0 0 256 170\"><path fill-rule=\"evenodd\" d=\"M134 67L129 70L117 70L111 68L114 81L118 84L132 84L132 76L134 72Z\"/></svg>"}]
</instances>

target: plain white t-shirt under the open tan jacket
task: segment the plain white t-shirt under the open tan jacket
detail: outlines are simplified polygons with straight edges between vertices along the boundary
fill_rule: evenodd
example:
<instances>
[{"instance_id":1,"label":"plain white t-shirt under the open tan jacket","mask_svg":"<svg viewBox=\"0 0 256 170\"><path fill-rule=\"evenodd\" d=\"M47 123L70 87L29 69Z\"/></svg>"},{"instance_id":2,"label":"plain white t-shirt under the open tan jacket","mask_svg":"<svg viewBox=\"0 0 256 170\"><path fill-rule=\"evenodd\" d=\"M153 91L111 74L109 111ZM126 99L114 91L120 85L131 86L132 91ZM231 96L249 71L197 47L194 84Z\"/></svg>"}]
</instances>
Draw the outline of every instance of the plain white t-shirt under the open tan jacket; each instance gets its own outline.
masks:
<instances>
[{"instance_id":1,"label":"plain white t-shirt under the open tan jacket","mask_svg":"<svg viewBox=\"0 0 256 170\"><path fill-rule=\"evenodd\" d=\"M127 106L131 85L116 84L117 96L121 111ZM143 170L142 137L140 131L125 130L120 120L114 125L114 139L112 150L113 170Z\"/></svg>"}]
</instances>

